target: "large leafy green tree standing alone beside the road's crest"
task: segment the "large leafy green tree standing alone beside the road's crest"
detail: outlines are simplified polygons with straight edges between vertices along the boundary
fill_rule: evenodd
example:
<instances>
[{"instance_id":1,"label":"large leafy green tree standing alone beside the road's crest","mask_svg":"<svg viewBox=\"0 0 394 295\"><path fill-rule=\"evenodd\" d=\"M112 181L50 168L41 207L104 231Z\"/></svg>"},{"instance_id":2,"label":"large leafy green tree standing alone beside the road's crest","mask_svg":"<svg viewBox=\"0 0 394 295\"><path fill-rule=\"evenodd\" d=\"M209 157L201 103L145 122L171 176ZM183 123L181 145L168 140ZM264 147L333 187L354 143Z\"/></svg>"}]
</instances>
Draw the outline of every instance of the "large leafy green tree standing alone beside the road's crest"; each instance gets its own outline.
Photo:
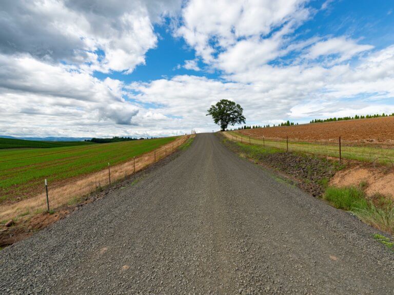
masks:
<instances>
[{"instance_id":1,"label":"large leafy green tree standing alone beside the road's crest","mask_svg":"<svg viewBox=\"0 0 394 295\"><path fill-rule=\"evenodd\" d=\"M222 99L216 104L212 104L207 116L212 116L213 121L220 126L221 131L225 131L229 124L245 123L243 111L241 106L234 101Z\"/></svg>"}]
</instances>

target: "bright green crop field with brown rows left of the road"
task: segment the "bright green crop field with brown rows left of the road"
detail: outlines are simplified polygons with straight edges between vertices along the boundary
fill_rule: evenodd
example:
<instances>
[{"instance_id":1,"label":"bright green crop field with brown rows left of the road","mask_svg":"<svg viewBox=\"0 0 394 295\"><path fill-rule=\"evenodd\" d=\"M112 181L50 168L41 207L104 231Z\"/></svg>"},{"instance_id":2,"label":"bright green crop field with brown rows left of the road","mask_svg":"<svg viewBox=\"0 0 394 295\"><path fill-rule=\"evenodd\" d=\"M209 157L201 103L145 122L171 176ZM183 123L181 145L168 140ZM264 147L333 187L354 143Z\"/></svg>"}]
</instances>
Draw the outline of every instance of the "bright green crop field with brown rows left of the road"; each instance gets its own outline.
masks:
<instances>
[{"instance_id":1,"label":"bright green crop field with brown rows left of the road","mask_svg":"<svg viewBox=\"0 0 394 295\"><path fill-rule=\"evenodd\" d=\"M50 183L100 171L153 151L176 137L51 149L0 150L0 202L33 196Z\"/></svg>"}]
</instances>

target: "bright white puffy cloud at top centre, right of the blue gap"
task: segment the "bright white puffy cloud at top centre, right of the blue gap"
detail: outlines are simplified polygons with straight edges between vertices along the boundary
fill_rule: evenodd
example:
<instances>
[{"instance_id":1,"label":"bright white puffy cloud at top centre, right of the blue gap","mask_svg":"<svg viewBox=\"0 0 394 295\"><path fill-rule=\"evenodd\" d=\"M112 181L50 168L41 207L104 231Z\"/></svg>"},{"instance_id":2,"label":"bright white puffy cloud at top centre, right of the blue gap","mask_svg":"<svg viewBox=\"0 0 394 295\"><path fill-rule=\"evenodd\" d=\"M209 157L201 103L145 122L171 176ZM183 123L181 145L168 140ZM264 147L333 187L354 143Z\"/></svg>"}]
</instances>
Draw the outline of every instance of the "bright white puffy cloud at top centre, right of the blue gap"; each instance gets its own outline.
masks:
<instances>
[{"instance_id":1,"label":"bright white puffy cloud at top centre, right of the blue gap","mask_svg":"<svg viewBox=\"0 0 394 295\"><path fill-rule=\"evenodd\" d=\"M241 38L267 35L283 24L298 23L309 15L305 0L189 1L182 11L183 25L176 35L207 63L219 47L226 50ZM207 13L209 11L209 13Z\"/></svg>"}]
</instances>

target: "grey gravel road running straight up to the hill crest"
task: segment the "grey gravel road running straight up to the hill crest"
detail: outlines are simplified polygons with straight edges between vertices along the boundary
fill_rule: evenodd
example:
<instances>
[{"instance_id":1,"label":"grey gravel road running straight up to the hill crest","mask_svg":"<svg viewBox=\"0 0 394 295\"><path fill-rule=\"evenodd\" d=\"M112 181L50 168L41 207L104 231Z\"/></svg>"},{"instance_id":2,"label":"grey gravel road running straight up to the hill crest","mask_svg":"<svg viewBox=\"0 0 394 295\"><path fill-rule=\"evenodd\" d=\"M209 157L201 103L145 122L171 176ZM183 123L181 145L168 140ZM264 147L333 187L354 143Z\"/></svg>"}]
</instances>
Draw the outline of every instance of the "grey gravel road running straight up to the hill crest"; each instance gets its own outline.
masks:
<instances>
[{"instance_id":1,"label":"grey gravel road running straight up to the hill crest","mask_svg":"<svg viewBox=\"0 0 394 295\"><path fill-rule=\"evenodd\" d=\"M1 294L393 294L377 230L199 134L0 252Z\"/></svg>"}]
</instances>

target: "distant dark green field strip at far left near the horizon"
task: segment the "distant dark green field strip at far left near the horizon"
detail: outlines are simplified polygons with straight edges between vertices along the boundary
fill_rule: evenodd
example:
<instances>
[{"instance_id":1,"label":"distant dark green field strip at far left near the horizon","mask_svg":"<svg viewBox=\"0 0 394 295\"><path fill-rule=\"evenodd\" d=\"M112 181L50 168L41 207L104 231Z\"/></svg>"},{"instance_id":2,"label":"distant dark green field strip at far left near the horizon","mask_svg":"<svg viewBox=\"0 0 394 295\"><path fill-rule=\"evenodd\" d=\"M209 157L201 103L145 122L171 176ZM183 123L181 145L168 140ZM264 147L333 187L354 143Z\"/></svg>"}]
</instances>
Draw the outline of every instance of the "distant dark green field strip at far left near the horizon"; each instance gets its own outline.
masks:
<instances>
[{"instance_id":1,"label":"distant dark green field strip at far left near the horizon","mask_svg":"<svg viewBox=\"0 0 394 295\"><path fill-rule=\"evenodd\" d=\"M63 147L75 145L94 144L89 141L38 141L38 140L24 140L14 138L0 138L0 149L15 149L21 147Z\"/></svg>"}]
</instances>

